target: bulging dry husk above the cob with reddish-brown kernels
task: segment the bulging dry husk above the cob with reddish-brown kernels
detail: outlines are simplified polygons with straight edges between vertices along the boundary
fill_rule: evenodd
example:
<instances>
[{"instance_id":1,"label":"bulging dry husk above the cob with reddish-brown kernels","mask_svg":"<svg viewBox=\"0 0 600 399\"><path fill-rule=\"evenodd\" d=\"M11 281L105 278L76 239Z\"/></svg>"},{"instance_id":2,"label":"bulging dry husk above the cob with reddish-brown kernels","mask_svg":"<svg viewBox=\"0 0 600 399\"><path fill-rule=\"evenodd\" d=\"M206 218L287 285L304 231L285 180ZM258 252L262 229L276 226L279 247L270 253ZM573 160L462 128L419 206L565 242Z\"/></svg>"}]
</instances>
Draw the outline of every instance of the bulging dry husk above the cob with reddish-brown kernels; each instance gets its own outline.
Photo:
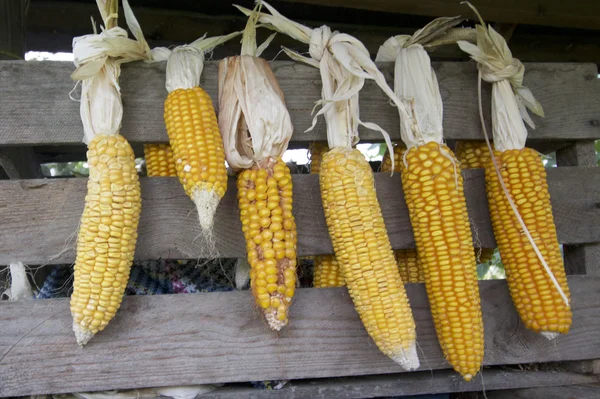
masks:
<instances>
[{"instance_id":1,"label":"bulging dry husk above the cob with reddish-brown kernels","mask_svg":"<svg viewBox=\"0 0 600 399\"><path fill-rule=\"evenodd\" d=\"M219 128L234 170L281 157L294 131L279 83L259 58L274 35L257 46L258 14L248 15L242 55L219 62Z\"/></svg>"}]
</instances>

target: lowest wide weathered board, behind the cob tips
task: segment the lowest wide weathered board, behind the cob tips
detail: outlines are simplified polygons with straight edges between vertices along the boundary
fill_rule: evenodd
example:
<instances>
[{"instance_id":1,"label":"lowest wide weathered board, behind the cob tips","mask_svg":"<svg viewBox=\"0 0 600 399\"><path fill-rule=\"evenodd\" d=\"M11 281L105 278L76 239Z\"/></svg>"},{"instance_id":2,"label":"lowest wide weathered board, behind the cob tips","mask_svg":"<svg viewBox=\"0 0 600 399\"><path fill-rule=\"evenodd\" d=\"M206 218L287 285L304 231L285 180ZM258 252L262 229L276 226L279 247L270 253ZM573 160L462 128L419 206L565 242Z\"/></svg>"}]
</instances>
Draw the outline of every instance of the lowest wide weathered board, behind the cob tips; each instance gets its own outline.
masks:
<instances>
[{"instance_id":1,"label":"lowest wide weathered board, behind the cob tips","mask_svg":"<svg viewBox=\"0 0 600 399\"><path fill-rule=\"evenodd\" d=\"M600 278L572 276L569 286L571 331L548 341L523 327L504 281L480 282L485 365L600 357ZM407 291L421 370L449 368L423 285ZM298 290L290 317L269 331L249 292L131 296L81 349L68 299L0 302L0 396L402 372L369 339L345 288Z\"/></svg>"}]
</instances>

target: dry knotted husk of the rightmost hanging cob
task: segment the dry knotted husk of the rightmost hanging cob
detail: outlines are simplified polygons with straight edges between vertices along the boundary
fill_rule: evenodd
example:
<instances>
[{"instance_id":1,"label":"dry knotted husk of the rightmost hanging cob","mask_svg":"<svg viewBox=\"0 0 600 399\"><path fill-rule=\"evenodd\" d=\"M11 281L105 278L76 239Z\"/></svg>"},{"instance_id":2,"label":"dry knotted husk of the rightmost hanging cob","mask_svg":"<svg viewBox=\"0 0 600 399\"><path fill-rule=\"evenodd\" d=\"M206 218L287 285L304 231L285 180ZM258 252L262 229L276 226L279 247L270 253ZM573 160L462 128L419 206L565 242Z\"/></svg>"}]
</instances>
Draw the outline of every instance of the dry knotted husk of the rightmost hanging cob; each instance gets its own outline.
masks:
<instances>
[{"instance_id":1,"label":"dry knotted husk of the rightmost hanging cob","mask_svg":"<svg viewBox=\"0 0 600 399\"><path fill-rule=\"evenodd\" d=\"M458 45L477 61L482 79L492 83L494 146L499 151L522 149L527 139L523 121L535 129L527 110L539 116L544 116L544 110L531 90L523 86L525 67L521 61L512 56L502 35L477 16L481 22L476 27L477 45L466 41L458 41Z\"/></svg>"}]
</instances>

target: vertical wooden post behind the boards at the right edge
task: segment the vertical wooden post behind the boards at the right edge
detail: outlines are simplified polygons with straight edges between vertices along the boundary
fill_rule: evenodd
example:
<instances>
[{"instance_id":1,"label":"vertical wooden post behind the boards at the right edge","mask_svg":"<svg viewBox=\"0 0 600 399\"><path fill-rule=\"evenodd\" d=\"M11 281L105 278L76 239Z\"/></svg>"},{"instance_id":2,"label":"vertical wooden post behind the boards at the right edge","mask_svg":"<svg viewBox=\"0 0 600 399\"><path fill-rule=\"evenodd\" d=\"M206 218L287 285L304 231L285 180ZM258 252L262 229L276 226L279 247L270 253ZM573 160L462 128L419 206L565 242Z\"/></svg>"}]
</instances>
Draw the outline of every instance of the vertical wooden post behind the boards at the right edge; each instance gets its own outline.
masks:
<instances>
[{"instance_id":1,"label":"vertical wooden post behind the boards at the right edge","mask_svg":"<svg viewBox=\"0 0 600 399\"><path fill-rule=\"evenodd\" d=\"M556 151L558 166L597 166L594 140L576 141ZM600 275L600 244L565 245L567 274Z\"/></svg>"}]
</instances>

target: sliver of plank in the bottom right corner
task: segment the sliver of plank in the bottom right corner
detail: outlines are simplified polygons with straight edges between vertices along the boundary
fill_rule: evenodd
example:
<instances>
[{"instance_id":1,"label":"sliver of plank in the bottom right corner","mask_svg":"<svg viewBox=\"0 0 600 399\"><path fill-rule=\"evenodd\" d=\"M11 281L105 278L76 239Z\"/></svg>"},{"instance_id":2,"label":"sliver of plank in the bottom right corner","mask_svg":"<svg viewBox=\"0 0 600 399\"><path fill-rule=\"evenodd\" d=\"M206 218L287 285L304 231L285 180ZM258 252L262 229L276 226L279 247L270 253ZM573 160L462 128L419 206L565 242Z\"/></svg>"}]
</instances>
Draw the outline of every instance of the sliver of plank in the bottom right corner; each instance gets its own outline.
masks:
<instances>
[{"instance_id":1,"label":"sliver of plank in the bottom right corner","mask_svg":"<svg viewBox=\"0 0 600 399\"><path fill-rule=\"evenodd\" d=\"M482 395L483 398L483 395ZM598 399L600 384L487 392L488 399Z\"/></svg>"}]
</instances>

